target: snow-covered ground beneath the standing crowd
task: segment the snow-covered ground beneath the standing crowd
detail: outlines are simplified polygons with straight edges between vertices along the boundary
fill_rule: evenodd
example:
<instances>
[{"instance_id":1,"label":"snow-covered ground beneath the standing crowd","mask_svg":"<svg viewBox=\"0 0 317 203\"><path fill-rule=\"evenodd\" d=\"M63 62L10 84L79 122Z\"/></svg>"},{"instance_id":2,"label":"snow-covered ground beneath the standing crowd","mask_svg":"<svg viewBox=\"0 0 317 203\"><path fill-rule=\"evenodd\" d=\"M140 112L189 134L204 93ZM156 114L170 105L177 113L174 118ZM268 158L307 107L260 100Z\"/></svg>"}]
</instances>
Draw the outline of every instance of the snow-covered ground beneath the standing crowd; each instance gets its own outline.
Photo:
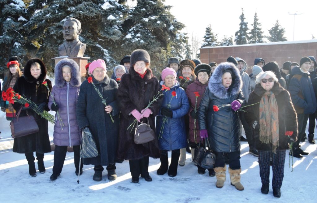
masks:
<instances>
[{"instance_id":1,"label":"snow-covered ground beneath the standing crowd","mask_svg":"<svg viewBox=\"0 0 317 203\"><path fill-rule=\"evenodd\" d=\"M308 125L307 125L308 126ZM0 145L7 144L10 136L9 121L0 112ZM308 134L307 130L306 133ZM53 125L49 124L49 135L52 140ZM223 188L216 188L216 177L197 173L197 167L187 154L186 164L178 166L178 175L174 178L167 174L159 176L159 159L150 158L150 175L152 182L140 178L138 184L131 182L128 161L117 165L118 178L108 181L107 170L103 172L103 180L92 180L94 170L92 165L85 165L80 183L75 175L74 154L68 152L61 176L50 181L52 174L54 152L45 154L46 173L29 176L28 163L24 154L12 152L12 149L0 151L0 202L305 202L316 203L317 194L317 144L307 141L301 143L302 149L309 152L303 159L294 158L294 171L288 168L286 157L284 181L281 188L281 198L273 196L272 188L267 195L262 194L261 179L257 157L248 153L246 142L241 145L241 182L243 191L238 191L230 185L229 173ZM288 152L287 152L288 153ZM169 157L171 154L169 154ZM171 161L171 159L170 159ZM37 168L37 164L36 164ZM272 173L271 173L272 180Z\"/></svg>"}]
</instances>

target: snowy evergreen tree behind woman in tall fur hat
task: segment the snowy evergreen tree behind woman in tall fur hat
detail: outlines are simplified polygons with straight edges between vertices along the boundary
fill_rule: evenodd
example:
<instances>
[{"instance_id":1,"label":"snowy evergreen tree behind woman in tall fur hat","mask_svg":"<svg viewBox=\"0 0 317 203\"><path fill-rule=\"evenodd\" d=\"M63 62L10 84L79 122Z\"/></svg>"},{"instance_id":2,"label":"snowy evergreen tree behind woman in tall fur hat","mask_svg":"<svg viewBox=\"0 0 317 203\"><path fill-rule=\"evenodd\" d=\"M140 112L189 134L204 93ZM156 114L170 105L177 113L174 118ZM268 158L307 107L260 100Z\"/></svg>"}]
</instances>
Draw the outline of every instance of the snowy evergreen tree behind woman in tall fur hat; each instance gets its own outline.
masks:
<instances>
[{"instance_id":1,"label":"snowy evergreen tree behind woman in tall fur hat","mask_svg":"<svg viewBox=\"0 0 317 203\"><path fill-rule=\"evenodd\" d=\"M175 19L170 8L163 0L138 0L123 23L125 36L121 50L125 54L138 48L147 50L151 67L156 67L157 73L169 57L182 58L184 53L186 37L180 32L184 24Z\"/></svg>"}]
</instances>

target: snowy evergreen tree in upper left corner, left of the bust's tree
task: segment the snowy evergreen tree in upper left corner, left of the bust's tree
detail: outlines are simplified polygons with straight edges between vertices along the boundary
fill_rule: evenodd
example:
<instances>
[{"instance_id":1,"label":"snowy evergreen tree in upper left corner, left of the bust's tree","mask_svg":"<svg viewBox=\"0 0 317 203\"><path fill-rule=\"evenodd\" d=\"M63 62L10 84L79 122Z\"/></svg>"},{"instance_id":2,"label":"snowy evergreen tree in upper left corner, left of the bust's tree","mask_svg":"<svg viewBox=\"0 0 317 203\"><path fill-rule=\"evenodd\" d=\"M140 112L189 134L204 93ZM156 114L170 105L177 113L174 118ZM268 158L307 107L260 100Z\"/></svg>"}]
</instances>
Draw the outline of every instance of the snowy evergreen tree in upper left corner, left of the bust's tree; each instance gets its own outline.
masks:
<instances>
[{"instance_id":1,"label":"snowy evergreen tree in upper left corner, left of the bust's tree","mask_svg":"<svg viewBox=\"0 0 317 203\"><path fill-rule=\"evenodd\" d=\"M27 60L26 49L30 47L24 25L28 19L23 1L0 1L0 74L7 70L6 64L11 56L18 56L22 63Z\"/></svg>"}]
</instances>

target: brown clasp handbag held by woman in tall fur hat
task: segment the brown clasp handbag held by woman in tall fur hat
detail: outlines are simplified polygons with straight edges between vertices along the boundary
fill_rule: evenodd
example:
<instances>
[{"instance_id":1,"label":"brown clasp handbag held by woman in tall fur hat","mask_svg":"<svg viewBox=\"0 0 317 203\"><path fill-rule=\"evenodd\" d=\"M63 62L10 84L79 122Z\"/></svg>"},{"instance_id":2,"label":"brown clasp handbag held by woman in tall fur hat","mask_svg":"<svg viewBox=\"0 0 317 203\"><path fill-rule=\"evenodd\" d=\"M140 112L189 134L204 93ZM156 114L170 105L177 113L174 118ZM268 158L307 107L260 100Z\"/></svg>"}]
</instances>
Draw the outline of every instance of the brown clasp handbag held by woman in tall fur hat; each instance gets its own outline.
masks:
<instances>
[{"instance_id":1,"label":"brown clasp handbag held by woman in tall fur hat","mask_svg":"<svg viewBox=\"0 0 317 203\"><path fill-rule=\"evenodd\" d=\"M147 124L141 122L134 131L134 143L144 144L151 142L155 139L155 132L152 130L149 124L149 118L147 118Z\"/></svg>"}]
</instances>

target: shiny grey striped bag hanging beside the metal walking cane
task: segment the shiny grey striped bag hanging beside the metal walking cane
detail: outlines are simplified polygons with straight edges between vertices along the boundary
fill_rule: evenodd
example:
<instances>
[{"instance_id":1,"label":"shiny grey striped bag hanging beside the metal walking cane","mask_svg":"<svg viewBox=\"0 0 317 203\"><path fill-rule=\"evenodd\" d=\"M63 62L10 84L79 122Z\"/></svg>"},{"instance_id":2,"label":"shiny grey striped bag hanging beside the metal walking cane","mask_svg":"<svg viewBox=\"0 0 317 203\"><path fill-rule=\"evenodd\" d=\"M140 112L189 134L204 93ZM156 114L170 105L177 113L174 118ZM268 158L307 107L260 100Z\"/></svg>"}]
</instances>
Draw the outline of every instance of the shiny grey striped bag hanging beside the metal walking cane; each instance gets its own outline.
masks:
<instances>
[{"instance_id":1,"label":"shiny grey striped bag hanging beside the metal walking cane","mask_svg":"<svg viewBox=\"0 0 317 203\"><path fill-rule=\"evenodd\" d=\"M94 137L91 134L89 128L84 128L82 131L80 157L81 158L93 158L99 155L97 144L94 141Z\"/></svg>"}]
</instances>

